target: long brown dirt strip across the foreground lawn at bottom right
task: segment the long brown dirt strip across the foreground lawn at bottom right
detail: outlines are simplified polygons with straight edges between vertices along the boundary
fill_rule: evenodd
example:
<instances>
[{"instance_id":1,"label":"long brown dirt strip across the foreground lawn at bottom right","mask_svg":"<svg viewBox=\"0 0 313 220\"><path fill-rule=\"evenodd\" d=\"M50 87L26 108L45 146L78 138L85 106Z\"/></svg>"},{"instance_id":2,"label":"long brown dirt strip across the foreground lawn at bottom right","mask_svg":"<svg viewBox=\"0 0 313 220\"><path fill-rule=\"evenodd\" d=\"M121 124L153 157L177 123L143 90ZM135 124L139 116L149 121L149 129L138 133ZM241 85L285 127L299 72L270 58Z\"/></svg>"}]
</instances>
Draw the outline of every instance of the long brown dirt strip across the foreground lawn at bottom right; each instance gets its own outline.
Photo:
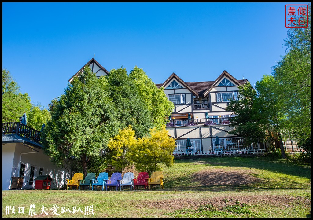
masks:
<instances>
[{"instance_id":1,"label":"long brown dirt strip across the foreground lawn at bottom right","mask_svg":"<svg viewBox=\"0 0 313 220\"><path fill-rule=\"evenodd\" d=\"M179 210L183 208L196 208L203 205L213 205L216 208L223 208L225 206L235 205L235 204L248 204L248 205L260 205L260 203L280 206L280 207L290 207L294 202L305 203L308 207L311 205L310 199L305 199L302 197L293 196L238 196L238 197L214 197L214 198L201 198L201 199L191 199L191 198L179 198L179 199L165 199L159 201L149 201L145 203L137 203L136 207L141 208L157 208L163 210Z\"/></svg>"}]
</instances>

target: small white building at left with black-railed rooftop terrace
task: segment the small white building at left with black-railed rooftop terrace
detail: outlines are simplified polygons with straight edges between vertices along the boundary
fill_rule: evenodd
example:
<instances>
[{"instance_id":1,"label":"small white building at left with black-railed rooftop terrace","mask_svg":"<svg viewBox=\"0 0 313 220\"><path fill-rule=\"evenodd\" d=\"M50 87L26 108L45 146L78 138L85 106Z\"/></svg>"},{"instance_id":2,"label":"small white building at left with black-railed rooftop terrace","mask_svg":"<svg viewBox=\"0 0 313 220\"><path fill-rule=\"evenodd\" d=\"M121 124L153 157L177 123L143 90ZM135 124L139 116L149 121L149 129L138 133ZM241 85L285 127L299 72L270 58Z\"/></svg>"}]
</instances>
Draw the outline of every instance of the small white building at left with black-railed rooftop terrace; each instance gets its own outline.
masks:
<instances>
[{"instance_id":1,"label":"small white building at left with black-railed rooftop terrace","mask_svg":"<svg viewBox=\"0 0 313 220\"><path fill-rule=\"evenodd\" d=\"M2 190L34 189L38 175L50 175L51 188L64 185L69 167L57 167L44 154L40 131L18 122L2 123L2 131Z\"/></svg>"}]
</instances>

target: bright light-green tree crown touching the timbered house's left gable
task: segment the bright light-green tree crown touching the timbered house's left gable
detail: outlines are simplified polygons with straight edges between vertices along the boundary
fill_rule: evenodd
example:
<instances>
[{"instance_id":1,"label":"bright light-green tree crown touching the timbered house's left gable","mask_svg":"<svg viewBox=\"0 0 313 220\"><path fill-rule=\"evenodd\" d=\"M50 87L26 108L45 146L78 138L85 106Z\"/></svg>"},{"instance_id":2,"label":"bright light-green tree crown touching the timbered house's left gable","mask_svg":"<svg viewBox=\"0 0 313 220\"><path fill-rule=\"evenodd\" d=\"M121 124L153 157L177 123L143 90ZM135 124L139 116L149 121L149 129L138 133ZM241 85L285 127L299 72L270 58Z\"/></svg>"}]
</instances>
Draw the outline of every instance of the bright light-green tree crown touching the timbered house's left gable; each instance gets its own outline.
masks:
<instances>
[{"instance_id":1,"label":"bright light-green tree crown touching the timbered house's left gable","mask_svg":"<svg viewBox=\"0 0 313 220\"><path fill-rule=\"evenodd\" d=\"M165 96L164 88L157 88L143 69L137 66L131 70L129 77L133 80L139 96L148 107L155 126L161 128L166 123L166 117L171 115L174 109L174 104Z\"/></svg>"}]
</instances>

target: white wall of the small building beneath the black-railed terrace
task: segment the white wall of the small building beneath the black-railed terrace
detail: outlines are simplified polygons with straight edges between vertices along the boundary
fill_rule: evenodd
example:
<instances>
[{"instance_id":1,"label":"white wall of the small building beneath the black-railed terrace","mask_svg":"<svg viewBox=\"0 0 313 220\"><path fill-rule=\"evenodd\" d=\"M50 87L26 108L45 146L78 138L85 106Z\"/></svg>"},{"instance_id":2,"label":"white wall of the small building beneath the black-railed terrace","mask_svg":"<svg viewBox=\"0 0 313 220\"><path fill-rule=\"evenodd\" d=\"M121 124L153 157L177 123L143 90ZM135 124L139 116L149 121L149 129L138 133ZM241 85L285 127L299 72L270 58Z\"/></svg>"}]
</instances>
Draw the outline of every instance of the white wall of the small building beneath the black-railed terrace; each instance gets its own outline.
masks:
<instances>
[{"instance_id":1,"label":"white wall of the small building beneath the black-railed terrace","mask_svg":"<svg viewBox=\"0 0 313 220\"><path fill-rule=\"evenodd\" d=\"M5 190L10 188L11 177L18 177L20 172L21 164L25 164L25 173L23 179L23 187L22 188L34 188L35 181L33 181L32 185L29 185L30 178L30 170L31 166L35 167L34 178L39 175L39 168L43 167L43 175L50 175L52 178L51 188L57 188L64 185L65 180L68 176L67 170L65 168L57 167L49 160L49 156L44 154L44 151L38 148L34 148L33 151L28 147L24 146L22 143L14 143L14 144L6 144L8 147L14 146L14 156L13 161L10 165L10 181L6 183L6 186L3 185ZM4 146L6 146L4 145ZM4 147L3 146L3 147ZM9 165L7 165L9 166Z\"/></svg>"}]
</instances>

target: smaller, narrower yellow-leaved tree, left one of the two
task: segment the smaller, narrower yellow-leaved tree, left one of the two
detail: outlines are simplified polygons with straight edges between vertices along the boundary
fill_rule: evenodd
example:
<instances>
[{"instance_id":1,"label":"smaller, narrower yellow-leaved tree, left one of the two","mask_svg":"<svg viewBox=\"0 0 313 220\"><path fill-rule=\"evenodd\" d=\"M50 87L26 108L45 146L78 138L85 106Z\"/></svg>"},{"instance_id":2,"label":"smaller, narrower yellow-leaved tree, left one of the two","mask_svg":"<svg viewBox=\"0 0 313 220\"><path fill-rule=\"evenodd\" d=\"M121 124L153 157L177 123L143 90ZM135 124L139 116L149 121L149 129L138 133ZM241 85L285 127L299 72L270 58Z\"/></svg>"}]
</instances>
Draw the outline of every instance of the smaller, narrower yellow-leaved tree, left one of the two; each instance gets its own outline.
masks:
<instances>
[{"instance_id":1,"label":"smaller, narrower yellow-leaved tree, left one of the two","mask_svg":"<svg viewBox=\"0 0 313 220\"><path fill-rule=\"evenodd\" d=\"M108 142L108 149L110 150L110 164L116 170L123 172L123 169L129 165L127 153L130 149L136 148L137 140L135 130L131 125L124 129L119 129L118 134L111 137Z\"/></svg>"}]
</instances>

